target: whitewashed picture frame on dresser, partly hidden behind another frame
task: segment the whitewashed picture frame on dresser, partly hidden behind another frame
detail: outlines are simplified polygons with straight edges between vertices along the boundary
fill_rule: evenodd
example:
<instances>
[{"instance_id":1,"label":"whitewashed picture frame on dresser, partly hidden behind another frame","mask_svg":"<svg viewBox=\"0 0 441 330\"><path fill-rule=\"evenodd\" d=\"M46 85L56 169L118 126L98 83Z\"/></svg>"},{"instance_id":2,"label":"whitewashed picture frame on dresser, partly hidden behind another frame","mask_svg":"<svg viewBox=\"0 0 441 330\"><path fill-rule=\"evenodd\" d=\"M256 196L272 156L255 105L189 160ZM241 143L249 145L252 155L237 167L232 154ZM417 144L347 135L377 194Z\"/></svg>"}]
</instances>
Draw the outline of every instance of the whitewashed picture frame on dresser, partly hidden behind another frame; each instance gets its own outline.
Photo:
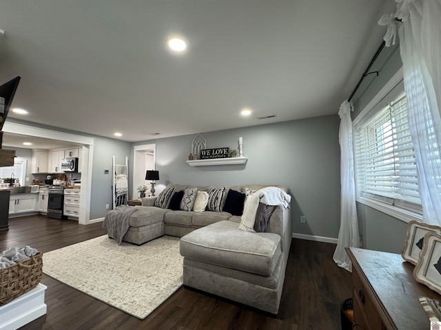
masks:
<instances>
[{"instance_id":1,"label":"whitewashed picture frame on dresser, partly hidden behind another frame","mask_svg":"<svg viewBox=\"0 0 441 330\"><path fill-rule=\"evenodd\" d=\"M441 227L416 220L409 221L404 246L401 250L402 259L416 265L422 250L422 245L424 245L424 236L429 232L435 232L441 235Z\"/></svg>"}]
</instances>

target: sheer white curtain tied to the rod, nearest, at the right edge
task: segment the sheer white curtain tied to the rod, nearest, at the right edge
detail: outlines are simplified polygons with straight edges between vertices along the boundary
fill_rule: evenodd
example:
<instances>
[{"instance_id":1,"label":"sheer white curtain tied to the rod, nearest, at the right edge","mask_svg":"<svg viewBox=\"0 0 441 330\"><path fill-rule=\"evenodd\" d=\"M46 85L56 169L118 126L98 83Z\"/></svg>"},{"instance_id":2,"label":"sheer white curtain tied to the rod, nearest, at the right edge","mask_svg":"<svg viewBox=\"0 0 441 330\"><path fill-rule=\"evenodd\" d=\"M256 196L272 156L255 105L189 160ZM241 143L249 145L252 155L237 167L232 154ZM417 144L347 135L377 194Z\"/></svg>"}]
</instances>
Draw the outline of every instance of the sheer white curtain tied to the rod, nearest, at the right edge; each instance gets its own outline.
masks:
<instances>
[{"instance_id":1,"label":"sheer white curtain tied to the rod, nearest, at the right edge","mask_svg":"<svg viewBox=\"0 0 441 330\"><path fill-rule=\"evenodd\" d=\"M441 225L441 0L396 2L378 23L388 25L386 45L398 31L423 221Z\"/></svg>"}]
</instances>

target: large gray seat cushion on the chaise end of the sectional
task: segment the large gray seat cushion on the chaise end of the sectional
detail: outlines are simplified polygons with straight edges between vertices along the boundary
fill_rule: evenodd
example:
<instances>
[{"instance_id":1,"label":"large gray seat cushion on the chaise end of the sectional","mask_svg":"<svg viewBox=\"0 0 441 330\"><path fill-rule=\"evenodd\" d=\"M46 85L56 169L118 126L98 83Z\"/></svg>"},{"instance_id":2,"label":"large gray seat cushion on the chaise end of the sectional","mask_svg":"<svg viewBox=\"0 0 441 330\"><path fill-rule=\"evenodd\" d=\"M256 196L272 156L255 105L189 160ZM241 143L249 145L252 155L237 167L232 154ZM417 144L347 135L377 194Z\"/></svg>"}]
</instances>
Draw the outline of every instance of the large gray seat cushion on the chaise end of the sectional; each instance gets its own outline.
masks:
<instances>
[{"instance_id":1,"label":"large gray seat cushion on the chaise end of the sectional","mask_svg":"<svg viewBox=\"0 0 441 330\"><path fill-rule=\"evenodd\" d=\"M270 276L280 258L280 236L243 232L238 223L220 221L183 236L180 251L188 259Z\"/></svg>"}]
</instances>

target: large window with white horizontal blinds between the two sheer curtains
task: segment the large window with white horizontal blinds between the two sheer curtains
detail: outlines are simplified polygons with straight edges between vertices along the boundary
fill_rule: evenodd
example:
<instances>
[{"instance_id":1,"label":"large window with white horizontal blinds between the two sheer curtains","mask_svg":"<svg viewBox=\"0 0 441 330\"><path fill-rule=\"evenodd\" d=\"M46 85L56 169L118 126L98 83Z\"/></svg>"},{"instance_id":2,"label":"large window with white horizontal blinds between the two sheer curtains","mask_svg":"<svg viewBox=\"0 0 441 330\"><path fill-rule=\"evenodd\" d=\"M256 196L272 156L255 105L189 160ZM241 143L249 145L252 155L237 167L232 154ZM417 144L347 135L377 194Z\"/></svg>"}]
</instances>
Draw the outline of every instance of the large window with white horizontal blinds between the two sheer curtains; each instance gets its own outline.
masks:
<instances>
[{"instance_id":1,"label":"large window with white horizontal blinds between the two sheer curtains","mask_svg":"<svg viewBox=\"0 0 441 330\"><path fill-rule=\"evenodd\" d=\"M402 83L355 127L358 196L422 214Z\"/></svg>"}]
</instances>

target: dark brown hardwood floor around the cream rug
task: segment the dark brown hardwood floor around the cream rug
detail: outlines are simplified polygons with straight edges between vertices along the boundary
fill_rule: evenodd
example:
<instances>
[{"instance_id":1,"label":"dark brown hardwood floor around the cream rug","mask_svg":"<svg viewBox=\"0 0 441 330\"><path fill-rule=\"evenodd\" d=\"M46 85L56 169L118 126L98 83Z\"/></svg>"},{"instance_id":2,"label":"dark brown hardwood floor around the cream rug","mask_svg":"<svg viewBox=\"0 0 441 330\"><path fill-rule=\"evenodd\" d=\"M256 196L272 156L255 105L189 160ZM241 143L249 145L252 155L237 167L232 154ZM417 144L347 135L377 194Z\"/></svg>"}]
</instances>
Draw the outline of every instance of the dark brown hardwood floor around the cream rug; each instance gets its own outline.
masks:
<instances>
[{"instance_id":1,"label":"dark brown hardwood floor around the cream rug","mask_svg":"<svg viewBox=\"0 0 441 330\"><path fill-rule=\"evenodd\" d=\"M0 251L30 245L48 252L106 234L101 223L30 216L10 219ZM341 329L340 303L351 296L351 274L332 260L335 245L293 239L277 316L181 287L144 320L43 274L48 289L45 330L68 329ZM43 255L44 270L44 255Z\"/></svg>"}]
</instances>

